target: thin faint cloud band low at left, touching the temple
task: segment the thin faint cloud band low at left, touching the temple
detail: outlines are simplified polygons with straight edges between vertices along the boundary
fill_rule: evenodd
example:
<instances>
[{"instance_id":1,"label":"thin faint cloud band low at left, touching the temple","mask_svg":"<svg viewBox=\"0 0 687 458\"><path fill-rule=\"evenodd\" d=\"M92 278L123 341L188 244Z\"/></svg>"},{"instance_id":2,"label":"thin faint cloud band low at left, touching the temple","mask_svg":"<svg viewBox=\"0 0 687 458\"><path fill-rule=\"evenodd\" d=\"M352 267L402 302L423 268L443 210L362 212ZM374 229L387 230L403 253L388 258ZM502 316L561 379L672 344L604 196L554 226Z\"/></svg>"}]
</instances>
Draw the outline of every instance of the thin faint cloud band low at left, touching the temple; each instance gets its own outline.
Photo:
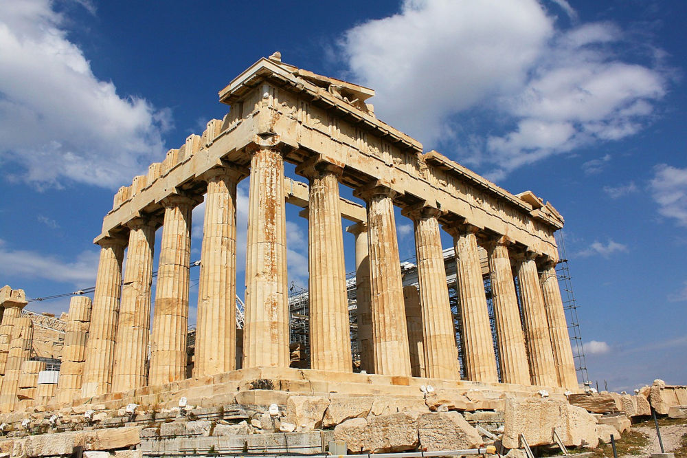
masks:
<instances>
[{"instance_id":1,"label":"thin faint cloud band low at left, touching the temple","mask_svg":"<svg viewBox=\"0 0 687 458\"><path fill-rule=\"evenodd\" d=\"M0 240L0 274L6 276L62 281L77 287L88 287L95 285L98 259L97 251L83 251L74 261L63 261L30 250L10 250Z\"/></svg>"}]
</instances>

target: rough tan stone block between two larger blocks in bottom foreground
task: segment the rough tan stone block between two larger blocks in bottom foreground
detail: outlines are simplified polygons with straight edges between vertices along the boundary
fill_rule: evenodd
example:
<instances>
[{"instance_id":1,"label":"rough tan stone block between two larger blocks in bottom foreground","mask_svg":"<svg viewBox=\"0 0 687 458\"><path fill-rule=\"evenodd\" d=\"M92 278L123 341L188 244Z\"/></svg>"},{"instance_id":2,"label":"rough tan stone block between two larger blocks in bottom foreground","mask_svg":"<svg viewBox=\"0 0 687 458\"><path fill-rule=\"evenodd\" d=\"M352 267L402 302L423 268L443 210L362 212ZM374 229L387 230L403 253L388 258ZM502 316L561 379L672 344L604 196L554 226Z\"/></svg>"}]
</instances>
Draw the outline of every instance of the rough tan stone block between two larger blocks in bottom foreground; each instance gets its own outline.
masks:
<instances>
[{"instance_id":1,"label":"rough tan stone block between two larger blocks in bottom foreground","mask_svg":"<svg viewBox=\"0 0 687 458\"><path fill-rule=\"evenodd\" d=\"M428 452L482 445L482 436L458 412L432 412L418 418L420 446Z\"/></svg>"}]
</instances>

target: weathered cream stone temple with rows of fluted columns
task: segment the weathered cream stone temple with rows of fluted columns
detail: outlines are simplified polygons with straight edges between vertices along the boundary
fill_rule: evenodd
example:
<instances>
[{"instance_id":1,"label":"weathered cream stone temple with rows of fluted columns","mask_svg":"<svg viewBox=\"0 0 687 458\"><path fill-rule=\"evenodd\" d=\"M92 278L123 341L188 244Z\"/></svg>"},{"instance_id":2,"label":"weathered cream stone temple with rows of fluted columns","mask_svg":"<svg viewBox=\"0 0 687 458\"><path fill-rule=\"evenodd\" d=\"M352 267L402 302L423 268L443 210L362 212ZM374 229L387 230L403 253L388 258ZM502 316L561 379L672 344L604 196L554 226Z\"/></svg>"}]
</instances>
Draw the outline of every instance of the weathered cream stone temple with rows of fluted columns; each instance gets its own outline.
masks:
<instances>
[{"instance_id":1,"label":"weathered cream stone temple with rows of fluted columns","mask_svg":"<svg viewBox=\"0 0 687 458\"><path fill-rule=\"evenodd\" d=\"M278 53L219 91L230 107L222 120L207 122L201 135L190 135L116 193L95 237L100 263L92 304L72 301L56 395L38 411L66 418L93 408L128 422L153 412L151 422L187 403L222 406L233 419L254 418L247 412L261 406L261 426L249 426L283 431L267 406L285 409L290 421L282 424L296 430L339 430L352 419L373 422L403 408L503 412L508 400L537 393L567 406L566 396L581 390L556 281L554 232L563 217L530 191L513 195L437 151L423 151L376 118L372 96L372 89L282 63ZM285 162L304 182L284 176ZM250 182L245 283L236 278L236 186L243 179ZM364 205L343 199L341 185ZM190 371L191 219L203 199ZM287 204L304 208L308 219L309 369L290 367ZM401 275L397 207L414 222L414 285ZM453 237L455 313L442 231ZM344 237L355 247L355 370ZM244 284L237 329L235 298ZM19 318L25 298L13 291L0 293L5 413L13 411L18 389L31 389L18 386L21 368L26 380L32 374L32 364L22 365L30 357L31 323ZM313 411L319 417L308 419ZM417 438L420 420L412 418Z\"/></svg>"}]
</instances>

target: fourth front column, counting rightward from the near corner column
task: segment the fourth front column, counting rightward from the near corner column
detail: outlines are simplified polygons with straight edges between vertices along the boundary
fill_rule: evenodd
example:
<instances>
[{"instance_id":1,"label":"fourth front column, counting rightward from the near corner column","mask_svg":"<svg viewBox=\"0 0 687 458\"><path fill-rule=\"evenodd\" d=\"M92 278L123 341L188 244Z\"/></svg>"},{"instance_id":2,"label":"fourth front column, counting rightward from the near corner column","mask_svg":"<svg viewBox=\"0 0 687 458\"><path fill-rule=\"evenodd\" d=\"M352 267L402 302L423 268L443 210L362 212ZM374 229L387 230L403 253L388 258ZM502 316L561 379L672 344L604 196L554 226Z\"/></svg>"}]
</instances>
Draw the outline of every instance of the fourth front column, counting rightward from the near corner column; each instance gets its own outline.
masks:
<instances>
[{"instance_id":1,"label":"fourth front column, counting rightward from the near corner column","mask_svg":"<svg viewBox=\"0 0 687 458\"><path fill-rule=\"evenodd\" d=\"M424 207L409 211L415 227L415 250L423 316L426 376L460 380L453 316L437 219L440 211Z\"/></svg>"}]
</instances>

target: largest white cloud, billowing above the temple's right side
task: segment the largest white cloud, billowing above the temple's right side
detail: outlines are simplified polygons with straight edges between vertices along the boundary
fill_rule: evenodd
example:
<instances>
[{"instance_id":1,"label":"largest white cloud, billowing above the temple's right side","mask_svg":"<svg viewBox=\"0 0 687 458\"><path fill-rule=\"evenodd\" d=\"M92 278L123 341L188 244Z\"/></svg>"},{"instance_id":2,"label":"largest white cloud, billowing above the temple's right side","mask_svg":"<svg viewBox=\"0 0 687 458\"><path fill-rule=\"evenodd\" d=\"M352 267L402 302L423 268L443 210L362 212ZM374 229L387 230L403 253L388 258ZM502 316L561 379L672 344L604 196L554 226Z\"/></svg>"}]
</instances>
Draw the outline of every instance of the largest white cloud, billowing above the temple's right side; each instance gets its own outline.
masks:
<instances>
[{"instance_id":1,"label":"largest white cloud, billowing above the temple's right side","mask_svg":"<svg viewBox=\"0 0 687 458\"><path fill-rule=\"evenodd\" d=\"M380 118L425 149L462 137L472 147L459 160L503 177L642 129L666 80L620 61L612 48L623 40L612 23L563 30L537 0L405 0L398 14L348 30L342 47L352 77L376 89ZM469 110L499 124L487 135L458 127Z\"/></svg>"}]
</instances>

